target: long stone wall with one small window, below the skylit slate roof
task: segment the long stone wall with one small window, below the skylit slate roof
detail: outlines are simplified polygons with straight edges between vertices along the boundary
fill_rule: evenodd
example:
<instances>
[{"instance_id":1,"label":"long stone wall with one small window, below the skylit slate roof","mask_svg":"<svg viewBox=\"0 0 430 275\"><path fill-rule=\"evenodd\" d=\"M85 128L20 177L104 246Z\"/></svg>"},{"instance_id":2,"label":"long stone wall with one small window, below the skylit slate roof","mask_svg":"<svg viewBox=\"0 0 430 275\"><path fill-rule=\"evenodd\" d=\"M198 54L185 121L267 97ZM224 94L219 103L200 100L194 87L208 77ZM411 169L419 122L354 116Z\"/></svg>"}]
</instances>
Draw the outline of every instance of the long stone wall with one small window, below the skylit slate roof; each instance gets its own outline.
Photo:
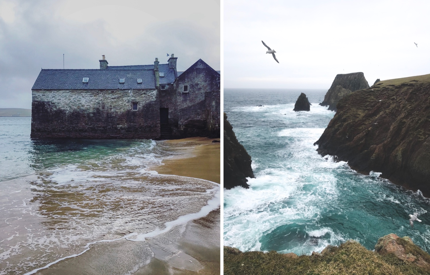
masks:
<instances>
[{"instance_id":1,"label":"long stone wall with one small window, below the skylit slate roof","mask_svg":"<svg viewBox=\"0 0 430 275\"><path fill-rule=\"evenodd\" d=\"M156 89L33 90L32 138L160 137ZM138 110L132 111L132 103Z\"/></svg>"}]
</instances>

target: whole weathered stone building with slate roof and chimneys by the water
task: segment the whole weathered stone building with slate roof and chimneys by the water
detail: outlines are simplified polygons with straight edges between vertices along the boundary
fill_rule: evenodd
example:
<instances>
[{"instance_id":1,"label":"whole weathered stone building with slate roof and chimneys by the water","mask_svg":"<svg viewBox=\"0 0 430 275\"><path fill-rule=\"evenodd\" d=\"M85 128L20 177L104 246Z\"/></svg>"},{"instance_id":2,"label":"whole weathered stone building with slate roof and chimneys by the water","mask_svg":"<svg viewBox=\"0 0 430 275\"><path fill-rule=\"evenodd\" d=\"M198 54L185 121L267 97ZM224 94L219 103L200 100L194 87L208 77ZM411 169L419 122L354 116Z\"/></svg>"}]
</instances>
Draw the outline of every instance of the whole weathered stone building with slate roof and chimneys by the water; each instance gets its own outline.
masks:
<instances>
[{"instance_id":1,"label":"whole weathered stone building with slate roof and chimneys by the water","mask_svg":"<svg viewBox=\"0 0 430 275\"><path fill-rule=\"evenodd\" d=\"M220 136L220 74L199 59L40 71L32 91L32 138L178 139ZM178 76L179 74L179 76Z\"/></svg>"}]
</instances>

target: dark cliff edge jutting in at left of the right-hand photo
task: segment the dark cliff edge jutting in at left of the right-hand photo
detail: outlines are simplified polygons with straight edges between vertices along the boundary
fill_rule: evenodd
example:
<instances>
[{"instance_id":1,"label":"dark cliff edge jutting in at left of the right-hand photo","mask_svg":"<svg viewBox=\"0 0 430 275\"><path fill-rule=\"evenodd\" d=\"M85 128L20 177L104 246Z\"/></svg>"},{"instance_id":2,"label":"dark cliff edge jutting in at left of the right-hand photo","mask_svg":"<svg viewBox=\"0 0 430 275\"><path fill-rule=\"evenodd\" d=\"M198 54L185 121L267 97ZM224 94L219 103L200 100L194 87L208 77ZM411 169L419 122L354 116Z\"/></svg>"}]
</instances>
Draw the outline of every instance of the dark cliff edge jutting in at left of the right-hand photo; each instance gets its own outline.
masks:
<instances>
[{"instance_id":1,"label":"dark cliff edge jutting in at left of the right-hand photo","mask_svg":"<svg viewBox=\"0 0 430 275\"><path fill-rule=\"evenodd\" d=\"M249 188L246 178L255 178L251 168L251 157L237 141L233 127L224 113L224 188L236 186Z\"/></svg>"}]
</instances>

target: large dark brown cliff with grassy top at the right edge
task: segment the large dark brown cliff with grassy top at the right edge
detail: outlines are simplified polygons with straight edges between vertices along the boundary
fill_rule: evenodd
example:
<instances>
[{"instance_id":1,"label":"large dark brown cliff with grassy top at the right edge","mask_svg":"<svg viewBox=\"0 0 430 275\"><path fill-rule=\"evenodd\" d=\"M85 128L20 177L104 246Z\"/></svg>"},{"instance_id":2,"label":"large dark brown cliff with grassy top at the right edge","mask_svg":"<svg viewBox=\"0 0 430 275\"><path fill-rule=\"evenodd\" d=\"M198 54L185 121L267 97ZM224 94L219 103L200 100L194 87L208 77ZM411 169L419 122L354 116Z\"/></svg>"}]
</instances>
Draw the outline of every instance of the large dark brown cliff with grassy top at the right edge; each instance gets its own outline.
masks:
<instances>
[{"instance_id":1,"label":"large dark brown cliff with grassy top at the right edge","mask_svg":"<svg viewBox=\"0 0 430 275\"><path fill-rule=\"evenodd\" d=\"M317 151L430 196L429 91L425 75L385 80L344 97L315 142Z\"/></svg>"}]
</instances>

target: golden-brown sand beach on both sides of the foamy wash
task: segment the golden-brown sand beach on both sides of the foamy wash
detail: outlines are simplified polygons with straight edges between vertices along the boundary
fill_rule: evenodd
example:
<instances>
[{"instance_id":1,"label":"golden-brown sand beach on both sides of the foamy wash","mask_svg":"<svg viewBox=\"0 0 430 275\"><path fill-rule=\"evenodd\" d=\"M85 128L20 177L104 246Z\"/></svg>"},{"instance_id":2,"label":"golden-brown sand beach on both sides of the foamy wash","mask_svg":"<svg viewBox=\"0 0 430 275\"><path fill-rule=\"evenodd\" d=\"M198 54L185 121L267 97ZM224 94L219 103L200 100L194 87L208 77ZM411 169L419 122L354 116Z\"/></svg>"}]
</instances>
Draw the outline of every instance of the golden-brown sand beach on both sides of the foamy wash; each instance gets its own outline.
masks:
<instances>
[{"instance_id":1,"label":"golden-brown sand beach on both sides of the foamy wash","mask_svg":"<svg viewBox=\"0 0 430 275\"><path fill-rule=\"evenodd\" d=\"M164 165L152 169L159 174L202 178L219 183L220 143L212 143L212 140L189 138L162 141L160 143L167 146L168 151L179 154L163 160ZM147 238L146 242L120 239L97 243L90 246L86 253L62 260L36 274L218 275L221 272L220 227L218 207L203 218L175 226L166 233Z\"/></svg>"}]
</instances>

